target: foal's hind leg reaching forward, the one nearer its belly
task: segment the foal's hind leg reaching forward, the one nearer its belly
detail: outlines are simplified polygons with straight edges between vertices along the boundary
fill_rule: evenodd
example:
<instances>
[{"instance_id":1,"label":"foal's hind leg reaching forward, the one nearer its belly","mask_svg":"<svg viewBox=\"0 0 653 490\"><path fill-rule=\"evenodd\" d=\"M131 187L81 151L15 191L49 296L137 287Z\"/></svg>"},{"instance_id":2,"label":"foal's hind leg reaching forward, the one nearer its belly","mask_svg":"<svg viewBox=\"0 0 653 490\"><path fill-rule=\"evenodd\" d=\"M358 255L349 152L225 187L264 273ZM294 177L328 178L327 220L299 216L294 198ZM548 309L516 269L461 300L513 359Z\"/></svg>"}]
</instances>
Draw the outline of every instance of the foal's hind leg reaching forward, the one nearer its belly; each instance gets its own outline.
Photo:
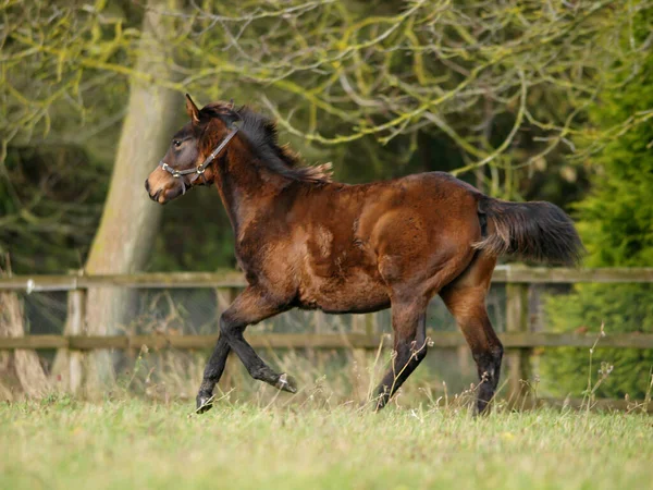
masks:
<instances>
[{"instance_id":1,"label":"foal's hind leg reaching forward, the one nearer its belly","mask_svg":"<svg viewBox=\"0 0 653 490\"><path fill-rule=\"evenodd\" d=\"M392 304L394 352L392 367L377 388L377 409L383 408L392 395L427 356L428 299Z\"/></svg>"}]
</instances>

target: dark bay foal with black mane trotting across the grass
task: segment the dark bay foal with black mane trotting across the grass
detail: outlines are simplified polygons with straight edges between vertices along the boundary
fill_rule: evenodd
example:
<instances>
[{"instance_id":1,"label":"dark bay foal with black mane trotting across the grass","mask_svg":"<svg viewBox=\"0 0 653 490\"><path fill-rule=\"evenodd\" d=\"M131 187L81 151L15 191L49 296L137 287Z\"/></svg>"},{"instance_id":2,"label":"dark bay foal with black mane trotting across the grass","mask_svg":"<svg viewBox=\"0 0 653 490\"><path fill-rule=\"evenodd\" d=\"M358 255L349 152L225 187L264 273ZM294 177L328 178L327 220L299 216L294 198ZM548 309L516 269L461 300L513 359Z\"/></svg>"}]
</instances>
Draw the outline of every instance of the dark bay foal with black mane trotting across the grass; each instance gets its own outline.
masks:
<instances>
[{"instance_id":1,"label":"dark bay foal with black mane trotting across the grass","mask_svg":"<svg viewBox=\"0 0 653 490\"><path fill-rule=\"evenodd\" d=\"M220 339L197 394L205 411L230 351L252 378L295 392L243 336L248 324L291 308L329 314L392 308L393 365L378 388L383 407L427 355L426 311L440 294L478 366L478 409L491 401L503 347L485 309L496 258L513 254L577 261L582 245L569 218L550 203L508 203L442 172L387 182L331 182L328 168L301 167L276 142L274 124L233 103L201 110L145 186L165 204L196 185L214 185L235 235L248 286L220 318Z\"/></svg>"}]
</instances>

